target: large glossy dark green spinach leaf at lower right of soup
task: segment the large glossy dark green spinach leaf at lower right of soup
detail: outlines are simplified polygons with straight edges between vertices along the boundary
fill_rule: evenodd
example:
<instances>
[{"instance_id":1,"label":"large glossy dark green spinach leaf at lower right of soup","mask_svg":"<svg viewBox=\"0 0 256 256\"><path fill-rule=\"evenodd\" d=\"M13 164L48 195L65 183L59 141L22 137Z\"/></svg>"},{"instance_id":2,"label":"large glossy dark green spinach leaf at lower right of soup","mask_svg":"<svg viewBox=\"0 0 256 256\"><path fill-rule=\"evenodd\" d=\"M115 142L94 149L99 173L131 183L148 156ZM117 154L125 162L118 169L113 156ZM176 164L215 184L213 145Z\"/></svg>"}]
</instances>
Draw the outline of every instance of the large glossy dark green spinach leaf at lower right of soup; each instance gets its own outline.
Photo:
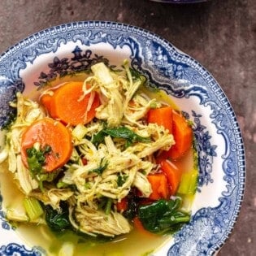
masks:
<instances>
[{"instance_id":1,"label":"large glossy dark green spinach leaf at lower right of soup","mask_svg":"<svg viewBox=\"0 0 256 256\"><path fill-rule=\"evenodd\" d=\"M190 220L190 214L180 210L181 199L160 199L150 205L140 206L138 217L143 227L150 232L176 232L184 223Z\"/></svg>"}]
</instances>

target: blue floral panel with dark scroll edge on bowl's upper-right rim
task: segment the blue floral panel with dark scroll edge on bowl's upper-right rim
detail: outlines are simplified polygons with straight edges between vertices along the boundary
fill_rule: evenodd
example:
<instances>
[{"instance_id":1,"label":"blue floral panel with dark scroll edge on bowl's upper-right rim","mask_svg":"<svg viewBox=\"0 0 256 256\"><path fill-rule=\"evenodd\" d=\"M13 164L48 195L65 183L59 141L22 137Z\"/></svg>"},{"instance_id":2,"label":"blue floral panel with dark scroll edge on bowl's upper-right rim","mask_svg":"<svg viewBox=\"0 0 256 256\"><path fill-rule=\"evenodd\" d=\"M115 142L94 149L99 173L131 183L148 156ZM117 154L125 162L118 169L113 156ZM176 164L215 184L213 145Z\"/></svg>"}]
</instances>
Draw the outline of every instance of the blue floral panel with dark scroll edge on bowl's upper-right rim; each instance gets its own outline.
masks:
<instances>
[{"instance_id":1,"label":"blue floral panel with dark scroll edge on bowl's upper-right rim","mask_svg":"<svg viewBox=\"0 0 256 256\"><path fill-rule=\"evenodd\" d=\"M209 100L209 91L202 86L206 85L206 81L197 70L200 66L193 63L191 67L189 64L192 63L192 59L189 57L177 54L174 49L167 50L163 43L146 41L145 59L150 63L150 67L146 67L150 69L150 73L164 77L161 83L158 83L158 87L167 90L176 98L197 96L202 104ZM151 74L149 77L153 79Z\"/></svg>"}]
</instances>

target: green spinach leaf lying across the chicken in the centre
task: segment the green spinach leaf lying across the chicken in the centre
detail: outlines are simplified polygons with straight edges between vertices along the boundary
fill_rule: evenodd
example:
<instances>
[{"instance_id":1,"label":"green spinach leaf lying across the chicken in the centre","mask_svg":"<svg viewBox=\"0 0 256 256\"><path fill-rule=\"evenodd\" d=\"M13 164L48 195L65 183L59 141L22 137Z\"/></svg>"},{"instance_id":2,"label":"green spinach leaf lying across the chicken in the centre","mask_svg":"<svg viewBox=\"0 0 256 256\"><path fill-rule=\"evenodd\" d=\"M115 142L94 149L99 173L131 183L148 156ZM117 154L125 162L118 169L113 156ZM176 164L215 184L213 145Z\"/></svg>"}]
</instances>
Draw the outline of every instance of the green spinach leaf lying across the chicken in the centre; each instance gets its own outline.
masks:
<instances>
[{"instance_id":1,"label":"green spinach leaf lying across the chicken in the centre","mask_svg":"<svg viewBox=\"0 0 256 256\"><path fill-rule=\"evenodd\" d=\"M104 128L93 136L93 144L98 145L104 141L104 138L109 135L114 138L122 138L127 140L127 145L131 145L136 142L150 142L149 137L141 137L131 129L120 126L118 128Z\"/></svg>"}]
</instances>

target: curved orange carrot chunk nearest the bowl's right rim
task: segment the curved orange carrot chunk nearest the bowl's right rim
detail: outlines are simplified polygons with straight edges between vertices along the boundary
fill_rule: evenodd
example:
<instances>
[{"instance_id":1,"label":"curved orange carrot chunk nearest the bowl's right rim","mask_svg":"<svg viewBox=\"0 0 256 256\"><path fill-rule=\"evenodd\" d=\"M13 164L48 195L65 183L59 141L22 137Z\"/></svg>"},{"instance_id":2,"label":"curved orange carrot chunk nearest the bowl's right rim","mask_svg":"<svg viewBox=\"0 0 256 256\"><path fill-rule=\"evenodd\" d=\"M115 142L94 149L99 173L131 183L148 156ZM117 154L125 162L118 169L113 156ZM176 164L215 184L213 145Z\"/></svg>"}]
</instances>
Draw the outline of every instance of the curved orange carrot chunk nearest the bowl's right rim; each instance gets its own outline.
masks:
<instances>
[{"instance_id":1,"label":"curved orange carrot chunk nearest the bowl's right rim","mask_svg":"<svg viewBox=\"0 0 256 256\"><path fill-rule=\"evenodd\" d=\"M183 115L173 111L172 134L176 142L167 152L163 152L165 158L176 160L186 154L192 147L193 131Z\"/></svg>"}]
</instances>

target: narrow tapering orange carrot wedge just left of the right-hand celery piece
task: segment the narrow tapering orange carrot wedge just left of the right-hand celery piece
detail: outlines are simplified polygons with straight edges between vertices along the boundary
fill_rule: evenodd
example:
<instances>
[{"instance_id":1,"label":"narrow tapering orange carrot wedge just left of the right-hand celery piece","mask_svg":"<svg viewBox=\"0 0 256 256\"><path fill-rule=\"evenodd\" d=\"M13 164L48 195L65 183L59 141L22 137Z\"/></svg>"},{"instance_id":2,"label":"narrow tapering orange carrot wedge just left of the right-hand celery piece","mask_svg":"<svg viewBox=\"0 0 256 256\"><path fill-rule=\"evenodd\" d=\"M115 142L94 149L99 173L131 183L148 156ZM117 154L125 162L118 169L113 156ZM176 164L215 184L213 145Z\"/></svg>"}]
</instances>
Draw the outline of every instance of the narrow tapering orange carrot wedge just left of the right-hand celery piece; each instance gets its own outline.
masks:
<instances>
[{"instance_id":1,"label":"narrow tapering orange carrot wedge just left of the right-hand celery piece","mask_svg":"<svg viewBox=\"0 0 256 256\"><path fill-rule=\"evenodd\" d=\"M174 195L180 184L182 170L168 160L163 160L161 162L161 170L167 176L168 184L170 184L171 195Z\"/></svg>"}]
</instances>

